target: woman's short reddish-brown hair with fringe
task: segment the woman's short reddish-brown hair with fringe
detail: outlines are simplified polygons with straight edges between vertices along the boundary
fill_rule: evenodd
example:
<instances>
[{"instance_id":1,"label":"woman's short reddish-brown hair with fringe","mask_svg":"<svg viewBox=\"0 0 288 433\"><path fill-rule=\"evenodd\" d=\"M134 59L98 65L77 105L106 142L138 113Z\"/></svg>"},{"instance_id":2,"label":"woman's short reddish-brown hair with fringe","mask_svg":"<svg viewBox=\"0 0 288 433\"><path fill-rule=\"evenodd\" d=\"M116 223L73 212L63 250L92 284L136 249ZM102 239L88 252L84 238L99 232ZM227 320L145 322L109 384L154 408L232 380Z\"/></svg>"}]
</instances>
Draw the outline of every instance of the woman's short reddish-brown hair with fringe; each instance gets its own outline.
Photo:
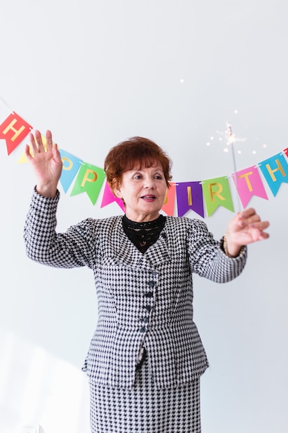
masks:
<instances>
[{"instance_id":1,"label":"woman's short reddish-brown hair with fringe","mask_svg":"<svg viewBox=\"0 0 288 433\"><path fill-rule=\"evenodd\" d=\"M131 137L112 147L105 158L104 170L111 190L120 185L122 175L135 167L152 167L160 163L166 185L169 188L172 179L171 160L165 151L154 141L143 137Z\"/></svg>"}]
</instances>

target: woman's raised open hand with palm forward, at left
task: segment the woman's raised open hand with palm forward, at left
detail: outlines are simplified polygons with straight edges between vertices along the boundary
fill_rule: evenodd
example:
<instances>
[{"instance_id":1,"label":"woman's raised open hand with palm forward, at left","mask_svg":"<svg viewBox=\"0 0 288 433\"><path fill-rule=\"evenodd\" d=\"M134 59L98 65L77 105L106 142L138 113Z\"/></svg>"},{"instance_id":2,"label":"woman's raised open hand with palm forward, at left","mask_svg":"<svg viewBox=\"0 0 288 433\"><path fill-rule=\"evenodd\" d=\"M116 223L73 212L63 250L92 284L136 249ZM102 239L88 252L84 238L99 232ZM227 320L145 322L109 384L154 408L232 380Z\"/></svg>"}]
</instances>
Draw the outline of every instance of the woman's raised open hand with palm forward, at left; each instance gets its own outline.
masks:
<instances>
[{"instance_id":1,"label":"woman's raised open hand with palm forward, at left","mask_svg":"<svg viewBox=\"0 0 288 433\"><path fill-rule=\"evenodd\" d=\"M30 133L30 146L33 156L28 145L25 154L37 176L36 190L44 197L55 197L62 172L62 160L57 145L53 145L51 131L46 131L46 150L39 131L35 131L35 136Z\"/></svg>"}]
</instances>

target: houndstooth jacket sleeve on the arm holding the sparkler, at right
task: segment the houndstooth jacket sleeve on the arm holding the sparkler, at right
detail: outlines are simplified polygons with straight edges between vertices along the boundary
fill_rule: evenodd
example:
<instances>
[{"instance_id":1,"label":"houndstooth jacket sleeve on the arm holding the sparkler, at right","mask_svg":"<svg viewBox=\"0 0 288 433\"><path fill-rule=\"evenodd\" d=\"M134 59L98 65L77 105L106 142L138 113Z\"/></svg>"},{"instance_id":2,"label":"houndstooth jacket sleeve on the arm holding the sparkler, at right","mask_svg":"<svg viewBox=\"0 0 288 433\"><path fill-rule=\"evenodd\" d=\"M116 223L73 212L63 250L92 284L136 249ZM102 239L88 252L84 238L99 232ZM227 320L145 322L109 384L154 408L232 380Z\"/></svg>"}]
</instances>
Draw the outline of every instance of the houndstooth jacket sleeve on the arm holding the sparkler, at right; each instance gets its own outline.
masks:
<instances>
[{"instance_id":1,"label":"houndstooth jacket sleeve on the arm holding the sparkler, at right","mask_svg":"<svg viewBox=\"0 0 288 433\"><path fill-rule=\"evenodd\" d=\"M188 236L188 255L192 272L213 282L229 282L240 273L246 264L247 248L240 255L228 257L222 250L222 240L216 241L208 231L206 223L192 220Z\"/></svg>"}]
</instances>

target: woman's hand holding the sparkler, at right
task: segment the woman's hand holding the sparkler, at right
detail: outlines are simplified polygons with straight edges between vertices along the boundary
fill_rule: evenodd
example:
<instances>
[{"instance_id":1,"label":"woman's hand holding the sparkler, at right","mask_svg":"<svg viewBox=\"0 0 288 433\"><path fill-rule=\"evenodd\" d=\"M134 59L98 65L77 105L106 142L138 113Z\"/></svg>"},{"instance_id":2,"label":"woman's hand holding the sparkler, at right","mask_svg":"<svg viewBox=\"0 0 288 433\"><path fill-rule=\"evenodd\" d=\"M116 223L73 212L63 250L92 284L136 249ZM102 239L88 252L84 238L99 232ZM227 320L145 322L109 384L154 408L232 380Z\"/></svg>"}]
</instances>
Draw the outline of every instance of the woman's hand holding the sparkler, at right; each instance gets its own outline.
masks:
<instances>
[{"instance_id":1,"label":"woman's hand holding the sparkler, at right","mask_svg":"<svg viewBox=\"0 0 288 433\"><path fill-rule=\"evenodd\" d=\"M269 227L268 221L261 221L255 209L242 210L233 216L226 229L226 249L229 255L237 256L243 245L269 238L264 230Z\"/></svg>"}]
</instances>

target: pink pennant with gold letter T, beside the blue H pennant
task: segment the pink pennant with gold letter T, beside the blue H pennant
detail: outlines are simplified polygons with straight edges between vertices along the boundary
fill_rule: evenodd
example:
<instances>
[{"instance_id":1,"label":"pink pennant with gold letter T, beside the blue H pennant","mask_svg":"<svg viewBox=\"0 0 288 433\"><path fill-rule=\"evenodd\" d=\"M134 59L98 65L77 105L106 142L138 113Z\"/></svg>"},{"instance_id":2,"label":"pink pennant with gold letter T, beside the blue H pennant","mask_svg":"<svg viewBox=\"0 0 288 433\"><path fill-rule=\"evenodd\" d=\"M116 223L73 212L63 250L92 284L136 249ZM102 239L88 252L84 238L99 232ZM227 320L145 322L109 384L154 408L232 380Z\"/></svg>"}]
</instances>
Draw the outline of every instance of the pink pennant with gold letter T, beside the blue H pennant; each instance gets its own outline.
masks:
<instances>
[{"instance_id":1,"label":"pink pennant with gold letter T, beside the blue H pennant","mask_svg":"<svg viewBox=\"0 0 288 433\"><path fill-rule=\"evenodd\" d=\"M235 174L232 174L233 181L244 209L252 196L258 196L261 199L268 200L257 167L249 167L236 174L237 178L235 178Z\"/></svg>"}]
</instances>

